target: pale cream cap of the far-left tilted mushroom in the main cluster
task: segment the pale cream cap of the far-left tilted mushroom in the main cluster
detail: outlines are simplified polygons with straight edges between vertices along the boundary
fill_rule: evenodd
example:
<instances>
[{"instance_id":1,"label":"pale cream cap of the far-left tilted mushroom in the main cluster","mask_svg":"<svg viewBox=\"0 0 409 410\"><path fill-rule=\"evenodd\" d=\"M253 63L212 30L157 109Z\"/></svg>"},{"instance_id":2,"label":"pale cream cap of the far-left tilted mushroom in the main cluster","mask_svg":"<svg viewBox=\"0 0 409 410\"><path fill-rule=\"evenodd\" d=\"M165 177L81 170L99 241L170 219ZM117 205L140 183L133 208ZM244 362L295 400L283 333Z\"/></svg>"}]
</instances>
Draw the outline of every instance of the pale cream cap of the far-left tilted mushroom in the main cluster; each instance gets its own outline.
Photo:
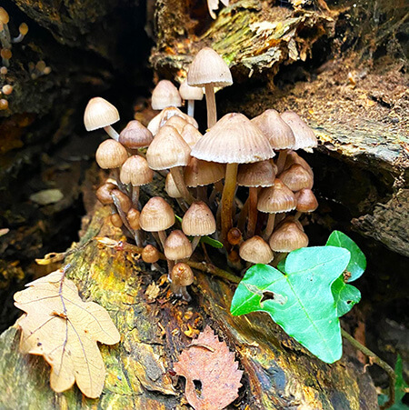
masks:
<instances>
[{"instance_id":1,"label":"pale cream cap of the far-left tilted mushroom in the main cluster","mask_svg":"<svg viewBox=\"0 0 409 410\"><path fill-rule=\"evenodd\" d=\"M119 113L114 105L100 96L95 96L88 101L84 112L84 125L86 131L115 124L119 121Z\"/></svg>"}]
</instances>

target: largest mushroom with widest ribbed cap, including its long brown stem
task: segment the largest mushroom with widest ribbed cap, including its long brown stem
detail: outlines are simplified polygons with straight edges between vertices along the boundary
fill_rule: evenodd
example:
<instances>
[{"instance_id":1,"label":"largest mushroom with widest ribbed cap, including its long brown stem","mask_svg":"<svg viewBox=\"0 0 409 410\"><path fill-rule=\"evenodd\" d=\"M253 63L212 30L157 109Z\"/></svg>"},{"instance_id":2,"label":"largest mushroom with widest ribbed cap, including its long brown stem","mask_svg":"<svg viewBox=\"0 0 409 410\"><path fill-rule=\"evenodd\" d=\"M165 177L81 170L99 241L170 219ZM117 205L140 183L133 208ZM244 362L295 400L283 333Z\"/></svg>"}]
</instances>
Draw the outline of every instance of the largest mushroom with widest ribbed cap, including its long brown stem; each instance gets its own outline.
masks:
<instances>
[{"instance_id":1,"label":"largest mushroom with widest ribbed cap, including its long brown stem","mask_svg":"<svg viewBox=\"0 0 409 410\"><path fill-rule=\"evenodd\" d=\"M274 156L268 140L242 114L224 115L192 148L192 156L209 162L226 164L222 195L222 241L233 226L233 201L239 164L264 161Z\"/></svg>"}]
</instances>

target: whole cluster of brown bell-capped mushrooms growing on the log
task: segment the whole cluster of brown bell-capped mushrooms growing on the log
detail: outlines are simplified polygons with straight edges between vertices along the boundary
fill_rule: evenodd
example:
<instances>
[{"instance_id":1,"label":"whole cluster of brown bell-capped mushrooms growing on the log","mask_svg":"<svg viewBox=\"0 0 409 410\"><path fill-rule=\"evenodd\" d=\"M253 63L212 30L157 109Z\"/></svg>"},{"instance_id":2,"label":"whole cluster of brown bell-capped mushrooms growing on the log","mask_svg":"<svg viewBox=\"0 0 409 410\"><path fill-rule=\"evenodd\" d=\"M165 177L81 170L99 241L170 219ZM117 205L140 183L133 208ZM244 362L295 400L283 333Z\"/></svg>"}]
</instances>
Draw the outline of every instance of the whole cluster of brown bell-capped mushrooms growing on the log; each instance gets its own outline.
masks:
<instances>
[{"instance_id":1,"label":"whole cluster of brown bell-capped mushrooms growing on the log","mask_svg":"<svg viewBox=\"0 0 409 410\"><path fill-rule=\"evenodd\" d=\"M203 236L220 239L235 268L242 268L243 261L276 263L308 245L299 219L318 206L313 171L295 152L317 145L313 130L294 112L274 109L252 120L240 113L217 120L214 87L232 83L224 60L205 47L179 91L167 80L156 85L152 106L161 111L147 127L134 120L118 134L112 125L119 114L101 97L85 109L86 129L104 128L111 137L96 151L98 165L111 170L97 190L99 201L111 206L113 225L145 246L146 263L156 264L161 248L172 290L186 300L193 273L185 262ZM205 135L193 117L193 102L203 97L203 87ZM184 99L188 114L179 109ZM163 197L141 203L139 187L151 183L155 173L165 177L165 191L183 215L174 230L175 211Z\"/></svg>"}]
</instances>

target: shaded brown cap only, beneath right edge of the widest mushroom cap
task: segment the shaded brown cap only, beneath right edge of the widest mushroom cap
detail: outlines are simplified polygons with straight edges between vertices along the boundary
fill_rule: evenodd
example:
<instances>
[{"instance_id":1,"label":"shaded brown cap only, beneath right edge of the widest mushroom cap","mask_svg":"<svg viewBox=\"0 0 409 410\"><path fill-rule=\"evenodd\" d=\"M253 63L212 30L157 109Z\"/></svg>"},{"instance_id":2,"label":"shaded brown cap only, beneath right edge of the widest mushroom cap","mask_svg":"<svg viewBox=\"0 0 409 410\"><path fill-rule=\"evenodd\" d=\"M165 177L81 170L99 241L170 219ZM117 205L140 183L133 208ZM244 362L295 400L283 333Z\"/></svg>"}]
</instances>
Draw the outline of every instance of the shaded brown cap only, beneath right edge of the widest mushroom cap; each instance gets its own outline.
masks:
<instances>
[{"instance_id":1,"label":"shaded brown cap only, beneath right edge of the widest mushroom cap","mask_svg":"<svg viewBox=\"0 0 409 410\"><path fill-rule=\"evenodd\" d=\"M273 186L275 172L270 161L242 164L238 167L237 185L248 187Z\"/></svg>"}]
</instances>

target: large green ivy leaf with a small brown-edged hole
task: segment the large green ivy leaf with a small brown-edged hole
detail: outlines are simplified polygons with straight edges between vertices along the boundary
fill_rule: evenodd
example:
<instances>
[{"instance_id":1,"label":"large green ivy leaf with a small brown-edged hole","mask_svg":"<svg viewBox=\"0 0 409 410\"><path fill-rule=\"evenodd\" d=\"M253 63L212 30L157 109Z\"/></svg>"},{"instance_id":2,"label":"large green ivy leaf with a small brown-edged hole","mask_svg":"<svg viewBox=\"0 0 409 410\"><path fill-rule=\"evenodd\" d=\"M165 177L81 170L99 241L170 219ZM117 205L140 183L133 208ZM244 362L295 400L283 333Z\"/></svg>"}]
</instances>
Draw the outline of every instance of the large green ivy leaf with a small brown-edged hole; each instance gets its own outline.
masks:
<instances>
[{"instance_id":1,"label":"large green ivy leaf with a small brown-edged hole","mask_svg":"<svg viewBox=\"0 0 409 410\"><path fill-rule=\"evenodd\" d=\"M232 315L267 312L301 345L326 363L342 355L342 338L331 285L348 265L348 250L316 246L291 252L281 273L254 265L234 293Z\"/></svg>"}]
</instances>

